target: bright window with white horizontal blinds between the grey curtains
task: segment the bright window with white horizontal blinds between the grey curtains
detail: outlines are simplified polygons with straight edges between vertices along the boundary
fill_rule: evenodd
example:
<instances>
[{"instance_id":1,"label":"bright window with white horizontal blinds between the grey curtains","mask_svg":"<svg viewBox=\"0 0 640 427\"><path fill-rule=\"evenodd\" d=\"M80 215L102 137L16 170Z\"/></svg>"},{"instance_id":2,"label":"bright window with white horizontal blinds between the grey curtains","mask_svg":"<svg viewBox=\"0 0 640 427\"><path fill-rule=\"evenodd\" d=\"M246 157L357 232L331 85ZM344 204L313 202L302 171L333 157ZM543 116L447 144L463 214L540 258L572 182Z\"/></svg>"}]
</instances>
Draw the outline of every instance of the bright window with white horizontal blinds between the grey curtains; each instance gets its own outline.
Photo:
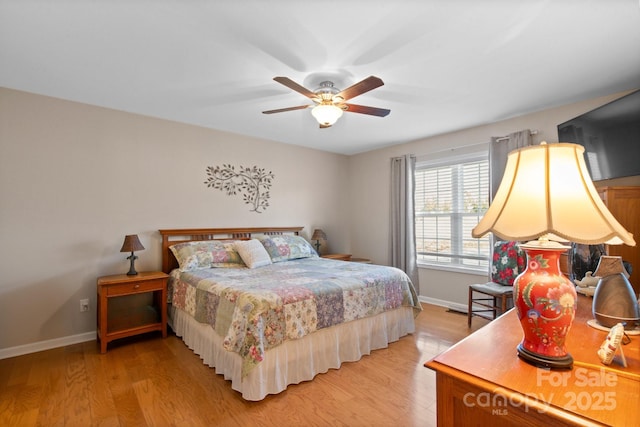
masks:
<instances>
[{"instance_id":1,"label":"bright window with white horizontal blinds between the grey curtains","mask_svg":"<svg viewBox=\"0 0 640 427\"><path fill-rule=\"evenodd\" d=\"M471 237L489 207L487 155L421 162L415 178L418 263L487 271L490 237Z\"/></svg>"}]
</instances>

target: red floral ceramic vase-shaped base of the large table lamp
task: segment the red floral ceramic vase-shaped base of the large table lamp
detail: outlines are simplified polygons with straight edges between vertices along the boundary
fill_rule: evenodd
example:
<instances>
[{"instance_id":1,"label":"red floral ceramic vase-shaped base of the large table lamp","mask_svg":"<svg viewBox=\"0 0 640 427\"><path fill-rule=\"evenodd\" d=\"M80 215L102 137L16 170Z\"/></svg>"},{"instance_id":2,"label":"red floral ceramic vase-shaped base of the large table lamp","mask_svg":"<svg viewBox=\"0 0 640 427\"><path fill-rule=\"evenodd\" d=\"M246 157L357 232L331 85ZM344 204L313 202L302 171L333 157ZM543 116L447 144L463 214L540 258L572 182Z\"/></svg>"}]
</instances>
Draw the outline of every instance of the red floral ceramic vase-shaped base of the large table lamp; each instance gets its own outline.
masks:
<instances>
[{"instance_id":1,"label":"red floral ceramic vase-shaped base of the large table lamp","mask_svg":"<svg viewBox=\"0 0 640 427\"><path fill-rule=\"evenodd\" d=\"M560 272L560 254L568 248L530 243L521 247L527 253L527 268L513 283L514 305L524 331L518 356L541 368L571 369L573 358L564 342L578 297L574 285Z\"/></svg>"}]
</instances>

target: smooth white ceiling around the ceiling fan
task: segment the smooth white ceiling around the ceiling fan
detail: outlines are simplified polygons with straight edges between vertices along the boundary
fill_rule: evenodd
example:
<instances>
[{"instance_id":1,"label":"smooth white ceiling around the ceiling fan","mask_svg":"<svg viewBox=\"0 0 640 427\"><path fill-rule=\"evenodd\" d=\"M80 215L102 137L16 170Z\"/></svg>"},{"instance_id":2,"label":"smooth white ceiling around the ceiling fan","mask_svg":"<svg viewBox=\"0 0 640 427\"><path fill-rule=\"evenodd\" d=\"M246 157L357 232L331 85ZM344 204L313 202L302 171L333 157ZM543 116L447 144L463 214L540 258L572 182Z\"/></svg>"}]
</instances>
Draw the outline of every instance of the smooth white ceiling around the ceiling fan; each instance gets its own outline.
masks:
<instances>
[{"instance_id":1,"label":"smooth white ceiling around the ceiling fan","mask_svg":"<svg viewBox=\"0 0 640 427\"><path fill-rule=\"evenodd\" d=\"M387 117L261 113L370 75ZM0 0L0 86L353 154L639 88L640 2Z\"/></svg>"}]
</instances>

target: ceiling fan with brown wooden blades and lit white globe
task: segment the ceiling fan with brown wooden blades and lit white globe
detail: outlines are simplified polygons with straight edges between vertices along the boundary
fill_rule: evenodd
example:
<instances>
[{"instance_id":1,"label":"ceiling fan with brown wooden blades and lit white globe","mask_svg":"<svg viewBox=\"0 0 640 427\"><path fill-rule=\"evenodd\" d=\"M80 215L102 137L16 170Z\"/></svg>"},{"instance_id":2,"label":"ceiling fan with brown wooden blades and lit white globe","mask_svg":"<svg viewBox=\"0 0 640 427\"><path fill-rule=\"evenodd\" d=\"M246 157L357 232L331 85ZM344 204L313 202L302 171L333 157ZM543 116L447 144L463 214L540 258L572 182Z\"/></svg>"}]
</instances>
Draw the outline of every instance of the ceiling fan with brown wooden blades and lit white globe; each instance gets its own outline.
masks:
<instances>
[{"instance_id":1,"label":"ceiling fan with brown wooden blades and lit white globe","mask_svg":"<svg viewBox=\"0 0 640 427\"><path fill-rule=\"evenodd\" d=\"M351 113L369 114L371 116L385 117L391 112L384 108L367 107L365 105L350 104L348 101L365 92L369 92L377 87L384 85L384 82L375 76L369 76L366 79L349 86L343 91L333 86L331 81L323 81L320 87L315 91L310 91L304 86L299 85L288 77L274 77L273 80L285 85L289 89L293 89L311 99L314 104L299 105L296 107L279 108L277 110L263 111L263 114L282 113L285 111L304 110L313 107L311 114L320 124L320 128L331 127L341 116L344 111Z\"/></svg>"}]
</instances>

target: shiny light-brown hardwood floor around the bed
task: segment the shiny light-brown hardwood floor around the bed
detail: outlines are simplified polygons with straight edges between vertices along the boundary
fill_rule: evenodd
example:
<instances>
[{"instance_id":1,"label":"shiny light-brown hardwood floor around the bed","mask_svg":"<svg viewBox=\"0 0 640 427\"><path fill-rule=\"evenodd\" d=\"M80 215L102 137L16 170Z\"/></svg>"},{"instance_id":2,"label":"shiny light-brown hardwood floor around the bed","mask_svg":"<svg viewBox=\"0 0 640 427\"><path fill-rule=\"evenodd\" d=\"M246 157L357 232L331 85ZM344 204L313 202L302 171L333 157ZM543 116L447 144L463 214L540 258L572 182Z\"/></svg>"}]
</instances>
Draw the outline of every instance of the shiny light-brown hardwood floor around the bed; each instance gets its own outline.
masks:
<instances>
[{"instance_id":1,"label":"shiny light-brown hardwood floor around the bed","mask_svg":"<svg viewBox=\"0 0 640 427\"><path fill-rule=\"evenodd\" d=\"M424 362L487 324L423 304L416 332L313 381L247 402L175 335L0 360L2 426L432 426Z\"/></svg>"}]
</instances>

